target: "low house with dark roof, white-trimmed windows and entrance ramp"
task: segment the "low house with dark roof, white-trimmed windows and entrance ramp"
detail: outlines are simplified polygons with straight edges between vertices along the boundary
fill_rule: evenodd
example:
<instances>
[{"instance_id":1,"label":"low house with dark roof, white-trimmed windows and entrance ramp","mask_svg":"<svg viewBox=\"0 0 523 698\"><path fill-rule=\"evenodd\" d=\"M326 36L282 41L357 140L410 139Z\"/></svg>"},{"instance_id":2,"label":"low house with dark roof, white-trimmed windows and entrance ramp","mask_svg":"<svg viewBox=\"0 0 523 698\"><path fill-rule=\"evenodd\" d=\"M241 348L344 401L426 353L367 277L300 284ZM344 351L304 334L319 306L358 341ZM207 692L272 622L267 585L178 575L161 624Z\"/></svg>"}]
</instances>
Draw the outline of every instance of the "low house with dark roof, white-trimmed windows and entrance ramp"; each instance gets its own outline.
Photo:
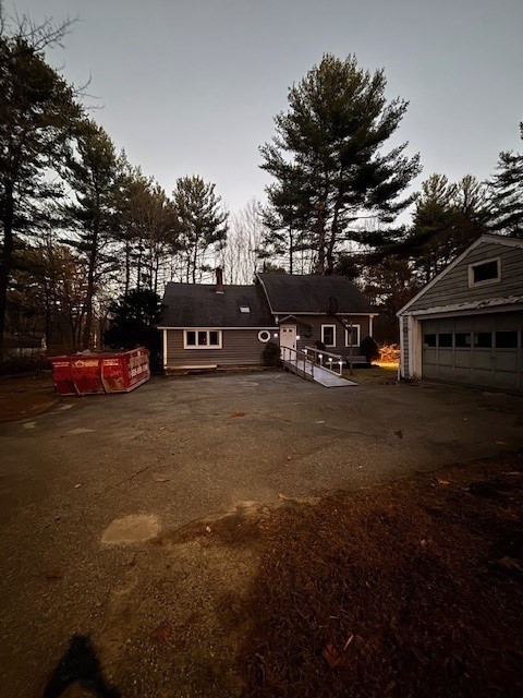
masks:
<instances>
[{"instance_id":1,"label":"low house with dark roof, white-trimmed windows and entrance ramp","mask_svg":"<svg viewBox=\"0 0 523 698\"><path fill-rule=\"evenodd\" d=\"M166 371L263 365L267 342L301 349L323 341L356 357L373 317L345 278L258 274L251 286L169 282L159 329ZM352 347L351 347L352 341Z\"/></svg>"}]
</instances>

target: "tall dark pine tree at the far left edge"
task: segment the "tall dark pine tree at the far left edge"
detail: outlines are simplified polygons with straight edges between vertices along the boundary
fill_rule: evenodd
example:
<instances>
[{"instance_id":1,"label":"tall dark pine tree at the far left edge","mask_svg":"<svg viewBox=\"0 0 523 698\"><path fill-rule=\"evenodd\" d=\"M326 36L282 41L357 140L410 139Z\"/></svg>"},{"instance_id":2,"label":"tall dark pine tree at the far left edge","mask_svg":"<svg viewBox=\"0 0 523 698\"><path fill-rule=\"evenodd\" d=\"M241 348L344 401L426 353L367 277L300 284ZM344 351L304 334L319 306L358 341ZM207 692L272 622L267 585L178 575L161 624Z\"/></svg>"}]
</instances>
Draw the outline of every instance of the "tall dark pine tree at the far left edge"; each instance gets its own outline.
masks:
<instances>
[{"instance_id":1,"label":"tall dark pine tree at the far left edge","mask_svg":"<svg viewBox=\"0 0 523 698\"><path fill-rule=\"evenodd\" d=\"M70 22L11 26L0 3L0 360L16 237L47 220L45 204L61 195L49 177L60 167L71 125L80 116L73 88L46 62Z\"/></svg>"}]
</instances>

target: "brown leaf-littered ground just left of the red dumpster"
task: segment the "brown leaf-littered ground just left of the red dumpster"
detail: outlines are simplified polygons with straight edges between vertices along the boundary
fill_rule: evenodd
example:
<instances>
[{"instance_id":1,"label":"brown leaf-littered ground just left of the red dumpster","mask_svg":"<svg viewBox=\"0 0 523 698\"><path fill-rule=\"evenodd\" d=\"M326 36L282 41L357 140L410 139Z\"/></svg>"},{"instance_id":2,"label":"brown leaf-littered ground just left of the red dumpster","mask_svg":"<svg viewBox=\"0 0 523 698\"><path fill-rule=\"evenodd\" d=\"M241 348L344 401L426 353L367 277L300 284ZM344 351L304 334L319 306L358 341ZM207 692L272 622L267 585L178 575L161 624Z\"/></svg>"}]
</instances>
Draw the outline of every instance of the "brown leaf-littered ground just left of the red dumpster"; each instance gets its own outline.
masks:
<instances>
[{"instance_id":1,"label":"brown leaf-littered ground just left of the red dumpster","mask_svg":"<svg viewBox=\"0 0 523 698\"><path fill-rule=\"evenodd\" d=\"M36 417L59 401L50 377L0 377L0 422Z\"/></svg>"}]
</instances>

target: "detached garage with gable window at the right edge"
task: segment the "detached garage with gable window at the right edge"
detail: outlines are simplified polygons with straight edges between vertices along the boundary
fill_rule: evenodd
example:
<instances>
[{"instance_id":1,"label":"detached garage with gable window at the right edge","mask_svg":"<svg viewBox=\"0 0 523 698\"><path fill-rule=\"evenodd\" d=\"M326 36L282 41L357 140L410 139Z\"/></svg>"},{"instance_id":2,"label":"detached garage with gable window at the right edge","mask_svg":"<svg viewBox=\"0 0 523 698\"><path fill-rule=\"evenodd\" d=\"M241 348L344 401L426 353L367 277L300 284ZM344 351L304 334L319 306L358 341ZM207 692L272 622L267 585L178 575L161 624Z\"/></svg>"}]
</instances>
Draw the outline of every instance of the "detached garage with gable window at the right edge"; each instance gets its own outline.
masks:
<instances>
[{"instance_id":1,"label":"detached garage with gable window at the right edge","mask_svg":"<svg viewBox=\"0 0 523 698\"><path fill-rule=\"evenodd\" d=\"M482 236L398 317L404 378L523 390L523 240Z\"/></svg>"}]
</instances>

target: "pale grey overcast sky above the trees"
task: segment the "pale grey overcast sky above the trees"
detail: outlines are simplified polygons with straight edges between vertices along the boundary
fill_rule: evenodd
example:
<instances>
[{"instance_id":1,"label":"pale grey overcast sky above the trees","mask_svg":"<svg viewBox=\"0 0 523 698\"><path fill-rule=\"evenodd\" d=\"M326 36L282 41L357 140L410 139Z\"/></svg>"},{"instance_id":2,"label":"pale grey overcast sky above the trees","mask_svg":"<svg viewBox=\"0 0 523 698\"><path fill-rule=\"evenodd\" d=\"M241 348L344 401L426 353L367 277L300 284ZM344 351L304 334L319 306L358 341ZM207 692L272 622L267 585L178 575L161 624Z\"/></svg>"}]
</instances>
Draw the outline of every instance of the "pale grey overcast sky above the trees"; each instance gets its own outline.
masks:
<instances>
[{"instance_id":1,"label":"pale grey overcast sky above the trees","mask_svg":"<svg viewBox=\"0 0 523 698\"><path fill-rule=\"evenodd\" d=\"M49 59L90 77L95 119L170 193L200 174L232 209L264 198L258 147L289 86L331 52L384 68L410 107L397 141L423 174L479 179L522 149L523 0L4 0L78 17Z\"/></svg>"}]
</instances>

